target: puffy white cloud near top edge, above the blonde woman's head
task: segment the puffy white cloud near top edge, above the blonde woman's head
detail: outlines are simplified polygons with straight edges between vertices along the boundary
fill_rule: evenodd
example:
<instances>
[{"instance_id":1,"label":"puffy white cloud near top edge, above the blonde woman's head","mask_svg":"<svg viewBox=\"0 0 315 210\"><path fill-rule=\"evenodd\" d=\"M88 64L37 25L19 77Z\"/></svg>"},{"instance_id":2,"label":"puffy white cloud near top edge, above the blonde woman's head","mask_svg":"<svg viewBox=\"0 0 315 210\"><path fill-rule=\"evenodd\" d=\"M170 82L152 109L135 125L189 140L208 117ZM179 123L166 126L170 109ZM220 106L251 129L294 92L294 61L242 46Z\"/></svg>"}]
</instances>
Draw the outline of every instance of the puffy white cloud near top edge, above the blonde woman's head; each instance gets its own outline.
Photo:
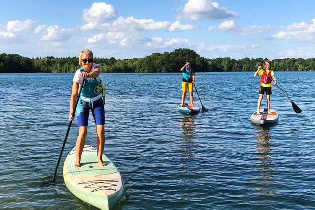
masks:
<instances>
[{"instance_id":1,"label":"puffy white cloud near top edge, above the blonde woman's head","mask_svg":"<svg viewBox=\"0 0 315 210\"><path fill-rule=\"evenodd\" d=\"M105 2L94 2L90 9L83 10L82 19L86 22L107 21L118 15L118 11Z\"/></svg>"}]
</instances>

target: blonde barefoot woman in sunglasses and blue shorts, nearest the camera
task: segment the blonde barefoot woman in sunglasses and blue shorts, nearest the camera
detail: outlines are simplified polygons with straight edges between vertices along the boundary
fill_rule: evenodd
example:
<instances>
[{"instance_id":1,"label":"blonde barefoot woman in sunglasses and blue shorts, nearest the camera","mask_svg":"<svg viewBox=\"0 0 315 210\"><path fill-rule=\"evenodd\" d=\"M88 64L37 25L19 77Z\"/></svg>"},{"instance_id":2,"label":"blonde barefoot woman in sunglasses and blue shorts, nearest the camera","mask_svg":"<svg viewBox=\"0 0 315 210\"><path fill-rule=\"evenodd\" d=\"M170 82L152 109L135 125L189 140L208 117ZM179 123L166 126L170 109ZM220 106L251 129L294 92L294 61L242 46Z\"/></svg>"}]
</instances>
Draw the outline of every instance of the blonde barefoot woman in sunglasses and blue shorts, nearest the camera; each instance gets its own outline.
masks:
<instances>
[{"instance_id":1,"label":"blonde barefoot woman in sunglasses and blue shorts, nearest the camera","mask_svg":"<svg viewBox=\"0 0 315 210\"><path fill-rule=\"evenodd\" d=\"M81 67L75 72L73 77L69 113L69 120L73 120L75 116L72 115L72 112L75 109L74 106L77 99L78 90L79 87L83 85L76 109L79 136L76 142L76 161L74 166L80 167L81 155L88 132L90 110L96 125L97 161L99 165L105 166L106 163L104 163L102 160L105 144L105 89L103 82L99 78L100 67L98 64L93 63L93 53L91 50L87 49L80 53L79 65Z\"/></svg>"}]
</instances>

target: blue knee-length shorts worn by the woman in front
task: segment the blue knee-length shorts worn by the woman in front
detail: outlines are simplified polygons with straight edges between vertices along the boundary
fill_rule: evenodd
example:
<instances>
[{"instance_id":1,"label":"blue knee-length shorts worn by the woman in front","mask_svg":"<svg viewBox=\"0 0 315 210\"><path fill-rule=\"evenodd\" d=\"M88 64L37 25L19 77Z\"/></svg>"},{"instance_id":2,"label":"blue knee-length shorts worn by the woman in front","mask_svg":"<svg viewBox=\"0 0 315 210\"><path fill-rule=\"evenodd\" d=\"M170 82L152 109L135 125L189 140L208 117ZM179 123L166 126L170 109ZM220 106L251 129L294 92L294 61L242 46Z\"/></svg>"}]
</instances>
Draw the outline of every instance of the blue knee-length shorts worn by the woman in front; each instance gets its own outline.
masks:
<instances>
[{"instance_id":1,"label":"blue knee-length shorts worn by the woman in front","mask_svg":"<svg viewBox=\"0 0 315 210\"><path fill-rule=\"evenodd\" d=\"M95 102L85 102L80 100L77 107L78 126L88 126L90 110L95 121L95 125L105 124L105 109L103 99L97 99Z\"/></svg>"}]
</instances>

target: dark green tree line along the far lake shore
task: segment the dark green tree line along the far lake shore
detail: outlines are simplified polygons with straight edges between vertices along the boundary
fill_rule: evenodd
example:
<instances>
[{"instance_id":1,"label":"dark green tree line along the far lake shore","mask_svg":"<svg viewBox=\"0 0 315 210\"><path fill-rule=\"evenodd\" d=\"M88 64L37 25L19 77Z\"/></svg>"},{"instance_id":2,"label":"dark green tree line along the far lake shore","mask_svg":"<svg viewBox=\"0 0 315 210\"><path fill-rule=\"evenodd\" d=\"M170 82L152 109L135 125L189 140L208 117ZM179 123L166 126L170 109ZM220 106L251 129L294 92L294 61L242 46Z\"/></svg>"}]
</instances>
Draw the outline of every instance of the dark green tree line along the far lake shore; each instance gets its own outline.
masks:
<instances>
[{"instance_id":1,"label":"dark green tree line along the far lake shore","mask_svg":"<svg viewBox=\"0 0 315 210\"><path fill-rule=\"evenodd\" d=\"M225 58L209 59L200 57L195 51L179 48L173 52L153 53L145 58L115 59L94 58L102 72L155 73L179 72L190 60L192 68L197 72L211 71L253 71L263 65L267 58L243 58L239 60ZM315 70L315 58L285 58L271 61L272 69L277 71ZM78 57L27 58L18 54L0 54L0 73L29 72L75 72L79 69Z\"/></svg>"}]
</instances>

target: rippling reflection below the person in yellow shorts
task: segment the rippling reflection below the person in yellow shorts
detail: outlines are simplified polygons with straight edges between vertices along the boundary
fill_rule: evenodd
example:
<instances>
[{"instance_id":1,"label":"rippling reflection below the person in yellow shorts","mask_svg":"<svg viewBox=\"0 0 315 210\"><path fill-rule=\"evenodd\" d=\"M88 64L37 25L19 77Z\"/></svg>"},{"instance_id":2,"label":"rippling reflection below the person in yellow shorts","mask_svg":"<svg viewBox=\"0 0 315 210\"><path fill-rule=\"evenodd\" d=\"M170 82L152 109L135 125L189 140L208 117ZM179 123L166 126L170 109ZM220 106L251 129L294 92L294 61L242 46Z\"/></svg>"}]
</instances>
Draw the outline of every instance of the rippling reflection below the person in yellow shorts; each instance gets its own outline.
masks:
<instances>
[{"instance_id":1,"label":"rippling reflection below the person in yellow shorts","mask_svg":"<svg viewBox=\"0 0 315 210\"><path fill-rule=\"evenodd\" d=\"M185 158L194 158L192 154L193 151L193 140L195 130L193 128L194 119L193 115L182 114L181 127L183 137L181 141L183 142L183 146L181 148L182 155Z\"/></svg>"}]
</instances>

